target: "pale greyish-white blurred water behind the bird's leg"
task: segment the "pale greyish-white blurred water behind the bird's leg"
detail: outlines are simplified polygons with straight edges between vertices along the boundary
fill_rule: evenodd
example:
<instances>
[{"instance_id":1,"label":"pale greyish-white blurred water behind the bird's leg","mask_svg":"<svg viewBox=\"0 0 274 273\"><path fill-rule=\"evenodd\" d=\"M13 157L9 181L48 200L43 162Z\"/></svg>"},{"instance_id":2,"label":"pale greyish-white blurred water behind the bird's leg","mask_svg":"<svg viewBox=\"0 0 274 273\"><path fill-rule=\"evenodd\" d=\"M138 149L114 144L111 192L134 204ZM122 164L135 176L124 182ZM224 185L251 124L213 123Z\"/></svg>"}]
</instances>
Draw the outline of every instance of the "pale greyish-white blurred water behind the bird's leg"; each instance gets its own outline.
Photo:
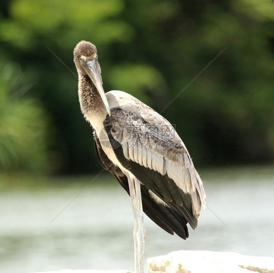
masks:
<instances>
[{"instance_id":1,"label":"pale greyish-white blurred water behind the bird's leg","mask_svg":"<svg viewBox=\"0 0 274 273\"><path fill-rule=\"evenodd\" d=\"M274 168L201 171L207 208L185 241L145 218L145 258L185 250L274 256ZM134 270L129 196L115 182L0 192L0 272Z\"/></svg>"}]
</instances>

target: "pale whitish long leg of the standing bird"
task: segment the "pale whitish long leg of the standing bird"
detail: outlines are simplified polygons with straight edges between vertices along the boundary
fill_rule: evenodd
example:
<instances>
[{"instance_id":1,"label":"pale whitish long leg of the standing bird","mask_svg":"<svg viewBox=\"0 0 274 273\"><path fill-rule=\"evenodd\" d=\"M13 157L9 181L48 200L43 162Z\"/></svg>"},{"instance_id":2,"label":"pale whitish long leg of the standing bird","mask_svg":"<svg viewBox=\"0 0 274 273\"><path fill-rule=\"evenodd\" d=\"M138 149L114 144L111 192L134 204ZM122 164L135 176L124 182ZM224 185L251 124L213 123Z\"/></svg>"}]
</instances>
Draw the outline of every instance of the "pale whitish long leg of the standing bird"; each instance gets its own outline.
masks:
<instances>
[{"instance_id":1,"label":"pale whitish long leg of the standing bird","mask_svg":"<svg viewBox=\"0 0 274 273\"><path fill-rule=\"evenodd\" d=\"M135 271L144 272L144 250L145 250L145 229L143 219L143 208L141 198L140 182L128 176L129 191L131 196L133 217L134 217L134 252Z\"/></svg>"}]
</instances>

